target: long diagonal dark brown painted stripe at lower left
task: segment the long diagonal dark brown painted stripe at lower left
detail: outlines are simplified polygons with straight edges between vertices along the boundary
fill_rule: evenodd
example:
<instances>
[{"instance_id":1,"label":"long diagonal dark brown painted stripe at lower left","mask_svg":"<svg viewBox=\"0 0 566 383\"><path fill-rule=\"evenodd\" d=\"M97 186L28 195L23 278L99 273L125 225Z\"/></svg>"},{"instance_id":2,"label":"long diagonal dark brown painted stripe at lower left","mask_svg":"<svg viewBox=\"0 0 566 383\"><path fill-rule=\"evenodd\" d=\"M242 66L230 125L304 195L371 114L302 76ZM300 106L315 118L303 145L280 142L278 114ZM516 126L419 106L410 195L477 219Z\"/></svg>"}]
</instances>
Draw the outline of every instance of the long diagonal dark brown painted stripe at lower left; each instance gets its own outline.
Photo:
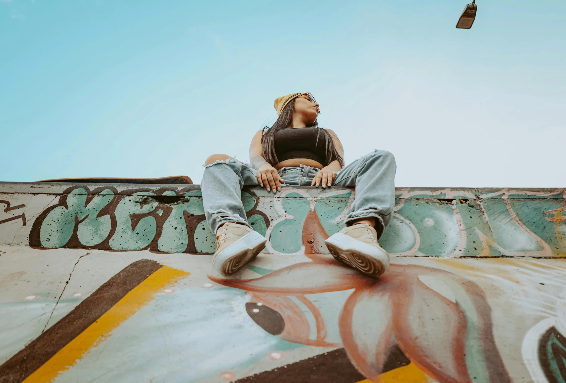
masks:
<instances>
[{"instance_id":1,"label":"long diagonal dark brown painted stripe at lower left","mask_svg":"<svg viewBox=\"0 0 566 383\"><path fill-rule=\"evenodd\" d=\"M126 266L98 287L63 319L2 364L0 383L22 382L161 267L162 265L156 261L148 259L135 261Z\"/></svg>"}]
</instances>

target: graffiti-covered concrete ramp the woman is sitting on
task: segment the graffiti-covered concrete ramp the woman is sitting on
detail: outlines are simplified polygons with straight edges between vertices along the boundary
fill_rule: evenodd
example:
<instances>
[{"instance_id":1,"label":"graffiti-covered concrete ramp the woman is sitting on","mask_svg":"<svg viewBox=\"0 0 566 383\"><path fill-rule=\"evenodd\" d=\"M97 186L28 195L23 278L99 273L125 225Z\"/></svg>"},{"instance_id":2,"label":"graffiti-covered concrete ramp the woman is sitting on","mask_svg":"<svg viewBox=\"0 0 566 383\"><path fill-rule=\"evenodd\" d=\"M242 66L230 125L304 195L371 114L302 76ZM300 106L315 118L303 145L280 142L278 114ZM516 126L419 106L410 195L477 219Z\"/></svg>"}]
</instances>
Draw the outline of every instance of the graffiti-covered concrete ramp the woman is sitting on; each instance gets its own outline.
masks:
<instances>
[{"instance_id":1,"label":"graffiti-covered concrete ramp the woman is sitting on","mask_svg":"<svg viewBox=\"0 0 566 383\"><path fill-rule=\"evenodd\" d=\"M353 190L248 188L223 278L198 185L0 183L0 382L565 382L564 193L397 188L372 279Z\"/></svg>"}]
</instances>

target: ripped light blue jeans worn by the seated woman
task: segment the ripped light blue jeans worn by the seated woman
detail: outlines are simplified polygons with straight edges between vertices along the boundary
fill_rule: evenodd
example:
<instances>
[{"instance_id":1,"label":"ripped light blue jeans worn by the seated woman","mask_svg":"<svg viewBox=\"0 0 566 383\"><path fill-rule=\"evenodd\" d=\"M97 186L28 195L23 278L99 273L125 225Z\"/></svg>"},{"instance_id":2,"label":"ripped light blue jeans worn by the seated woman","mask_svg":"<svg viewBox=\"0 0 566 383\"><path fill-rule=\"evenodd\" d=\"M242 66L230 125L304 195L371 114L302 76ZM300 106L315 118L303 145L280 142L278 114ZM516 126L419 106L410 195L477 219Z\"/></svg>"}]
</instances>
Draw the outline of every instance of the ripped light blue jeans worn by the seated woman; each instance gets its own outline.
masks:
<instances>
[{"instance_id":1,"label":"ripped light blue jeans worn by the seated woman","mask_svg":"<svg viewBox=\"0 0 566 383\"><path fill-rule=\"evenodd\" d=\"M319 170L300 165L284 167L279 170L279 175L285 186L310 186ZM355 200L346 216L346 226L359 218L374 217L378 238L381 236L391 221L395 206L396 170L393 154L374 150L338 171L332 186L355 187ZM204 213L212 233L216 233L225 222L250 226L242 204L242 187L259 186L257 174L257 170L237 160L216 161L205 166L200 188Z\"/></svg>"}]
</instances>

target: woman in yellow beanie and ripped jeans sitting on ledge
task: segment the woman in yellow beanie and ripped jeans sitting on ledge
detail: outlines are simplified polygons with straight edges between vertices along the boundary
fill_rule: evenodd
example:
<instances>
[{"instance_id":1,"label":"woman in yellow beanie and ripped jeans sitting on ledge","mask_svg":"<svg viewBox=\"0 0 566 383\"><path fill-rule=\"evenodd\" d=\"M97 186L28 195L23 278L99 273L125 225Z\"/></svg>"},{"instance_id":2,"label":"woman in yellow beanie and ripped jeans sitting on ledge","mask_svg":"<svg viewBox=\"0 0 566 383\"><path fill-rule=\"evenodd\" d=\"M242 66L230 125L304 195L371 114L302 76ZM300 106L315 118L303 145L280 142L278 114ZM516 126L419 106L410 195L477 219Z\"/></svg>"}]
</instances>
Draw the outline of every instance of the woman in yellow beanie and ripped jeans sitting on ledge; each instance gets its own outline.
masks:
<instances>
[{"instance_id":1,"label":"woman in yellow beanie and ripped jeans sitting on ledge","mask_svg":"<svg viewBox=\"0 0 566 383\"><path fill-rule=\"evenodd\" d=\"M274 193L282 184L335 185L355 187L355 200L346 227L325 244L338 261L368 276L380 276L389 266L389 255L378 238L395 205L393 154L374 150L344 167L342 144L333 131L318 127L319 104L310 93L279 97L274 106L277 121L251 141L251 166L226 154L213 154L205 162L201 191L208 225L216 233L214 268L228 276L254 259L267 242L246 220L244 185Z\"/></svg>"}]
</instances>

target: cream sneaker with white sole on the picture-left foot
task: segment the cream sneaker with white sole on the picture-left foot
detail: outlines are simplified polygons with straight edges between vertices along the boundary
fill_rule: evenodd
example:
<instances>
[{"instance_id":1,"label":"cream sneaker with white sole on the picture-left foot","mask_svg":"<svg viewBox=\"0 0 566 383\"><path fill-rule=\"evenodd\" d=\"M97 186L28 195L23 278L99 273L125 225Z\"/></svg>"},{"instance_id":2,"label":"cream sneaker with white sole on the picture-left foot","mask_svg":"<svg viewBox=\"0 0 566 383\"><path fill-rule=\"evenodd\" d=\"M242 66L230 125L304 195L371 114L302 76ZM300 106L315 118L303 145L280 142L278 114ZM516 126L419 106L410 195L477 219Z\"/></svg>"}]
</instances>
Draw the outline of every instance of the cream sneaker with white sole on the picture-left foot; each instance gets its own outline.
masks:
<instances>
[{"instance_id":1,"label":"cream sneaker with white sole on the picture-left foot","mask_svg":"<svg viewBox=\"0 0 566 383\"><path fill-rule=\"evenodd\" d=\"M223 276L235 273L254 259L265 247L267 239L246 225L226 222L216 232L216 252L212 266Z\"/></svg>"}]
</instances>

